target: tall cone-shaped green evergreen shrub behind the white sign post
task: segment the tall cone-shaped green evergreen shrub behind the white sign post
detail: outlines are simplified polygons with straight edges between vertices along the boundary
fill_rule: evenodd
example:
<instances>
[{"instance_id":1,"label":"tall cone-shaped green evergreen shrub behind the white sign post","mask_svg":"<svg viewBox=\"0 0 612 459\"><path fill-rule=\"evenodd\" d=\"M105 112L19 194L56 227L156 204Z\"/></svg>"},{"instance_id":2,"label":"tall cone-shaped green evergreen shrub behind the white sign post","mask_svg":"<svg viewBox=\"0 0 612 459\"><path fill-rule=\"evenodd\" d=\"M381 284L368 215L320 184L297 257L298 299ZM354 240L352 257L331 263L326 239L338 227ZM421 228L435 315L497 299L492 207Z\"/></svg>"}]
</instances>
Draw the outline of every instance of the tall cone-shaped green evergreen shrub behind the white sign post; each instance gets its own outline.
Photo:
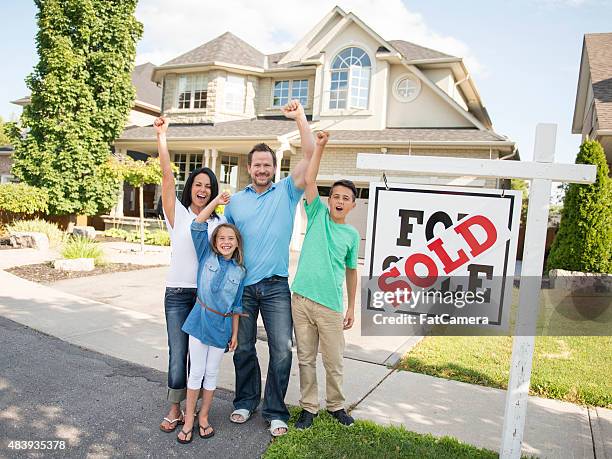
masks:
<instances>
[{"instance_id":1,"label":"tall cone-shaped green evergreen shrub behind the white sign post","mask_svg":"<svg viewBox=\"0 0 612 459\"><path fill-rule=\"evenodd\" d=\"M612 180L601 144L584 142L576 164L596 165L597 178L591 185L568 186L546 267L612 273Z\"/></svg>"}]
</instances>

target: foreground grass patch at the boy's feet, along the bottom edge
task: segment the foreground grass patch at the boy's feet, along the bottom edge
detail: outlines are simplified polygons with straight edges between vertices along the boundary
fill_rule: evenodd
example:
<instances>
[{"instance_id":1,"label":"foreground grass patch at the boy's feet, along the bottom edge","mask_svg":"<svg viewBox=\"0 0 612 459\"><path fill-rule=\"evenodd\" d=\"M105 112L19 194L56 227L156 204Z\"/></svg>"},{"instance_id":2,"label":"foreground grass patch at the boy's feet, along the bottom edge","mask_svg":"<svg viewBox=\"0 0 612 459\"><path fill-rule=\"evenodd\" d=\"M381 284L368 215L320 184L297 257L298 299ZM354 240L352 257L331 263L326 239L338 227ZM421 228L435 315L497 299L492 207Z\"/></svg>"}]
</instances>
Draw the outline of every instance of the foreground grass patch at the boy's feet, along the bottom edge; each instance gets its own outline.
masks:
<instances>
[{"instance_id":1,"label":"foreground grass patch at the boy's feet, along the bottom edge","mask_svg":"<svg viewBox=\"0 0 612 459\"><path fill-rule=\"evenodd\" d=\"M299 409L291 410L290 425ZM469 446L450 437L436 438L408 432L402 427L382 427L357 421L351 427L338 424L321 412L306 430L290 429L277 438L263 455L265 459L290 458L496 458L493 451Z\"/></svg>"}]
</instances>

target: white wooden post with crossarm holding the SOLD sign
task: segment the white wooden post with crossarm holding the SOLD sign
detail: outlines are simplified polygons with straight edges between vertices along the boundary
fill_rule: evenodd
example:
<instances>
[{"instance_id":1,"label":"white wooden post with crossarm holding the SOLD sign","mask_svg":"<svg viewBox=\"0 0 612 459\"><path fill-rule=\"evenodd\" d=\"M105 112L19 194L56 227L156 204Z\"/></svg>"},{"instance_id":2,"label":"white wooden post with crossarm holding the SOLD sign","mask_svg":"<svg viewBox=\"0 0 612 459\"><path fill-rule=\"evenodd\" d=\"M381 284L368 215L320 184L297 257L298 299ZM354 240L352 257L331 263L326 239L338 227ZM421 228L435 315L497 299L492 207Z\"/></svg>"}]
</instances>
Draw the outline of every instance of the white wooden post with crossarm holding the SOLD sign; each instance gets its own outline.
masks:
<instances>
[{"instance_id":1,"label":"white wooden post with crossarm holding the SOLD sign","mask_svg":"<svg viewBox=\"0 0 612 459\"><path fill-rule=\"evenodd\" d=\"M551 182L593 183L596 167L592 165L554 164L556 124L538 124L534 161L451 159L427 156L403 156L361 153L357 168L404 171L420 175L520 178L531 181L529 209L521 268L521 286L516 330L512 346L512 364L506 395L500 456L520 458L531 364L535 342L536 319L540 299L544 244L548 225Z\"/></svg>"}]
</instances>

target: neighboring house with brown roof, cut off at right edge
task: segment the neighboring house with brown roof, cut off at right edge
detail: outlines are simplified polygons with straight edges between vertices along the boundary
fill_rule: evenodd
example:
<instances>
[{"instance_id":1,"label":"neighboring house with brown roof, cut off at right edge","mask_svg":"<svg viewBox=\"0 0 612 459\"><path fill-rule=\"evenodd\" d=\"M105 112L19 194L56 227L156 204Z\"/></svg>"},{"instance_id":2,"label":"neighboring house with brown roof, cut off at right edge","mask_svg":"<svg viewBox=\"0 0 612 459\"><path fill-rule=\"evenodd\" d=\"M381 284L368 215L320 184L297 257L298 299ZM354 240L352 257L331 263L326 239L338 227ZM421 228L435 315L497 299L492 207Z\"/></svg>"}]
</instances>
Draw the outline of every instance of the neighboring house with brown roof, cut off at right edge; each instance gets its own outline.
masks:
<instances>
[{"instance_id":1,"label":"neighboring house with brown roof, cut off at right edge","mask_svg":"<svg viewBox=\"0 0 612 459\"><path fill-rule=\"evenodd\" d=\"M584 36L572 133L598 140L612 164L612 32Z\"/></svg>"}]
</instances>

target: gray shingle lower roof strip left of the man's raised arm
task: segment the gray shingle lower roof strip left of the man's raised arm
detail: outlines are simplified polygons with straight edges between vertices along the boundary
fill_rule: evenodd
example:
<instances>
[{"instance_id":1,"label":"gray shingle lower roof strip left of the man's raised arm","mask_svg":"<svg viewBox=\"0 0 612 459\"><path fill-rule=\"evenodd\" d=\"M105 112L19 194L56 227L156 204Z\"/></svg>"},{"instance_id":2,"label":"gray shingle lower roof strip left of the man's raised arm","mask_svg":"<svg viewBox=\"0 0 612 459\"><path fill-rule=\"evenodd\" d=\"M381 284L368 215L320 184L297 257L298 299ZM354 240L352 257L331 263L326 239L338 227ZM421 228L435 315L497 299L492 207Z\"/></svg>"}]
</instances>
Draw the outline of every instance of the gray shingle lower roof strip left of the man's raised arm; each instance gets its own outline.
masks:
<instances>
[{"instance_id":1,"label":"gray shingle lower roof strip left of the man's raised arm","mask_svg":"<svg viewBox=\"0 0 612 459\"><path fill-rule=\"evenodd\" d=\"M171 121L172 123L172 121ZM170 124L168 139L217 138L217 137L274 137L295 131L291 120L240 120L216 124ZM123 131L118 140L155 140L152 126L130 127Z\"/></svg>"}]
</instances>

